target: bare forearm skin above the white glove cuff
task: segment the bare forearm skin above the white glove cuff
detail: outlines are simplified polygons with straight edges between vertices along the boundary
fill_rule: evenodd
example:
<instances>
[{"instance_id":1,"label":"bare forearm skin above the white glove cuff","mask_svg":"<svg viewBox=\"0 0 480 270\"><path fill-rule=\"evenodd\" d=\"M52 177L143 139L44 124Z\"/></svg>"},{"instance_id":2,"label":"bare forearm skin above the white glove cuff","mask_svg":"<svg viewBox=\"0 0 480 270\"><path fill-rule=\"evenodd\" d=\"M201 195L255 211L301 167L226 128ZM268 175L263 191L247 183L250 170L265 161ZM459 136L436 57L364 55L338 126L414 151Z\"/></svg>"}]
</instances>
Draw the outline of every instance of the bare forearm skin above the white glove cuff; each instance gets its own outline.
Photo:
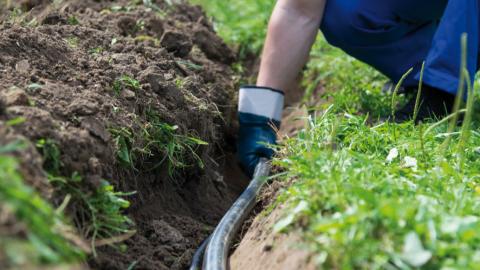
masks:
<instances>
[{"instance_id":1,"label":"bare forearm skin above the white glove cuff","mask_svg":"<svg viewBox=\"0 0 480 270\"><path fill-rule=\"evenodd\" d=\"M279 0L268 26L257 85L285 91L305 64L326 0Z\"/></svg>"}]
</instances>

